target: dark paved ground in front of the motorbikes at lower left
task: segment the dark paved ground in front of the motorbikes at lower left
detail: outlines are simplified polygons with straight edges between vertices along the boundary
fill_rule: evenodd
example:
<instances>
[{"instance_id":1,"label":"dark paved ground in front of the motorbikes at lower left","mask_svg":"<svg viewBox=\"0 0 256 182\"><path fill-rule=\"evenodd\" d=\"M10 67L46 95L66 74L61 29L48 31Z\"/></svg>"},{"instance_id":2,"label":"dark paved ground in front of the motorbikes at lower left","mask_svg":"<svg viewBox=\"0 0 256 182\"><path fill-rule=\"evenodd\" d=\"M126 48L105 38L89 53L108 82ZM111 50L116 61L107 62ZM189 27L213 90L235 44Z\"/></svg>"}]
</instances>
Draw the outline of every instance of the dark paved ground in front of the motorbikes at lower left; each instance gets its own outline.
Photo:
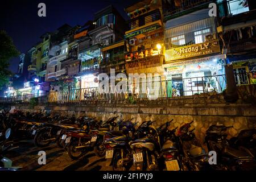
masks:
<instances>
[{"instance_id":1,"label":"dark paved ground in front of the motorbikes at lower left","mask_svg":"<svg viewBox=\"0 0 256 182\"><path fill-rule=\"evenodd\" d=\"M93 152L88 152L79 160L69 158L66 151L52 144L51 146L38 148L32 143L32 140L24 140L16 142L19 148L10 151L6 157L13 160L13 166L21 167L21 170L47 170L47 171L63 171L63 170L112 170L112 167L106 166L105 157L99 158ZM46 152L46 164L39 165L39 151Z\"/></svg>"}]
</instances>

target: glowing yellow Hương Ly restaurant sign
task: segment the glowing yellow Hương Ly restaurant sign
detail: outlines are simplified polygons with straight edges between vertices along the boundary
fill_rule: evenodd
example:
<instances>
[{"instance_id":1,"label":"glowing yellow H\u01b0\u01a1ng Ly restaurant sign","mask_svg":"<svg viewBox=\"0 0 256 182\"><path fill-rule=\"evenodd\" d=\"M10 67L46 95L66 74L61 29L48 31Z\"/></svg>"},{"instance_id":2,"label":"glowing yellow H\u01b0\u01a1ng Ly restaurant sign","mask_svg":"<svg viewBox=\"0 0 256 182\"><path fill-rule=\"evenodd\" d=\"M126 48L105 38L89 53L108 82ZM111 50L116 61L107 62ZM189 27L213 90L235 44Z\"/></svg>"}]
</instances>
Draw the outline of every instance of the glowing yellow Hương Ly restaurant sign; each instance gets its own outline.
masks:
<instances>
[{"instance_id":1,"label":"glowing yellow H\u01b0\u01a1ng Ly restaurant sign","mask_svg":"<svg viewBox=\"0 0 256 182\"><path fill-rule=\"evenodd\" d=\"M166 61L209 55L217 52L220 52L220 44L218 43L218 40L211 40L201 44L168 49L166 51Z\"/></svg>"}]
</instances>

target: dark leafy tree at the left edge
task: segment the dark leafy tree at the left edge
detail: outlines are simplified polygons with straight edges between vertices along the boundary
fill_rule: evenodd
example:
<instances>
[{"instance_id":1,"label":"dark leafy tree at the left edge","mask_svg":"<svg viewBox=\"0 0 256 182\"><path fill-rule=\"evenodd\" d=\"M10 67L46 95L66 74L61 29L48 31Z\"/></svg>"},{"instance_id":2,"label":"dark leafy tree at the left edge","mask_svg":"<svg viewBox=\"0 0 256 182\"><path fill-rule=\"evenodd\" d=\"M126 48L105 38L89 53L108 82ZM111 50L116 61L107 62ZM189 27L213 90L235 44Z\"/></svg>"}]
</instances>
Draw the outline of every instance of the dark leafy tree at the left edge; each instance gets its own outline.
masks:
<instances>
[{"instance_id":1,"label":"dark leafy tree at the left edge","mask_svg":"<svg viewBox=\"0 0 256 182\"><path fill-rule=\"evenodd\" d=\"M0 30L0 89L9 82L13 73L8 69L11 58L19 56L19 51L13 43L13 39L3 30Z\"/></svg>"}]
</instances>

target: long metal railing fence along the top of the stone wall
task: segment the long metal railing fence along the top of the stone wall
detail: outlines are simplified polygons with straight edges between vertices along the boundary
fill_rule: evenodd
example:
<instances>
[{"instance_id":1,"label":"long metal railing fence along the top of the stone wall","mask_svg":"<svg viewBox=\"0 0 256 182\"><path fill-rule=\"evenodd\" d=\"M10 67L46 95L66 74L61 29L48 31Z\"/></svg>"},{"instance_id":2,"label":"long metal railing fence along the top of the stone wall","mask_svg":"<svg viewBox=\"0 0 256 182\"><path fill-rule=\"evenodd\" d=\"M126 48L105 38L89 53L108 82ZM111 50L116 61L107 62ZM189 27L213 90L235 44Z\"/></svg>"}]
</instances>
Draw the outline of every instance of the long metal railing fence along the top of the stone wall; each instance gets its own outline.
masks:
<instances>
[{"instance_id":1,"label":"long metal railing fence along the top of the stone wall","mask_svg":"<svg viewBox=\"0 0 256 182\"><path fill-rule=\"evenodd\" d=\"M247 93L255 95L256 74L241 73L236 74L235 80L237 86L253 87L246 88ZM242 83L242 85L241 85ZM146 88L142 88L143 84ZM150 85L151 86L148 86ZM104 90L105 89L105 90ZM0 98L0 103L29 103L31 99L37 104L72 104L72 103L90 103L94 101L130 101L142 102L151 100L176 100L180 98L208 97L209 95L218 95L226 89L226 76L205 76L180 78L172 80L154 79L151 82L136 82L133 84L126 81L126 84L96 88L82 88L63 91L51 91L42 94L27 94L23 96L14 96ZM105 92L102 92L104 90ZM112 91L112 92L111 92Z\"/></svg>"}]
</instances>

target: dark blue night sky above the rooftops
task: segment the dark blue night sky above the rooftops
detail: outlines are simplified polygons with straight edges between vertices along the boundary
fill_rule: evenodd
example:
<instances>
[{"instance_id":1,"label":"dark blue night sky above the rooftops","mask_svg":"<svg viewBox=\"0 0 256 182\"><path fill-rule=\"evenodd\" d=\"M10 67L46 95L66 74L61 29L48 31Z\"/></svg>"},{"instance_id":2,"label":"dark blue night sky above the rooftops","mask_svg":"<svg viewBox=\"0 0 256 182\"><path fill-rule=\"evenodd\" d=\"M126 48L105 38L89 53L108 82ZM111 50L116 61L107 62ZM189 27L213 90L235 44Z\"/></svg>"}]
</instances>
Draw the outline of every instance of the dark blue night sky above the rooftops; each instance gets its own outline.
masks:
<instances>
[{"instance_id":1,"label":"dark blue night sky above the rooftops","mask_svg":"<svg viewBox=\"0 0 256 182\"><path fill-rule=\"evenodd\" d=\"M52 32L64 23L71 26L83 25L93 20L97 11L108 5L116 7L127 19L124 7L138 0L8 0L0 1L0 29L7 31L18 50L26 52L37 42L44 32ZM46 17L38 16L38 4L46 3ZM16 72L18 58L10 61L10 70Z\"/></svg>"}]
</instances>

